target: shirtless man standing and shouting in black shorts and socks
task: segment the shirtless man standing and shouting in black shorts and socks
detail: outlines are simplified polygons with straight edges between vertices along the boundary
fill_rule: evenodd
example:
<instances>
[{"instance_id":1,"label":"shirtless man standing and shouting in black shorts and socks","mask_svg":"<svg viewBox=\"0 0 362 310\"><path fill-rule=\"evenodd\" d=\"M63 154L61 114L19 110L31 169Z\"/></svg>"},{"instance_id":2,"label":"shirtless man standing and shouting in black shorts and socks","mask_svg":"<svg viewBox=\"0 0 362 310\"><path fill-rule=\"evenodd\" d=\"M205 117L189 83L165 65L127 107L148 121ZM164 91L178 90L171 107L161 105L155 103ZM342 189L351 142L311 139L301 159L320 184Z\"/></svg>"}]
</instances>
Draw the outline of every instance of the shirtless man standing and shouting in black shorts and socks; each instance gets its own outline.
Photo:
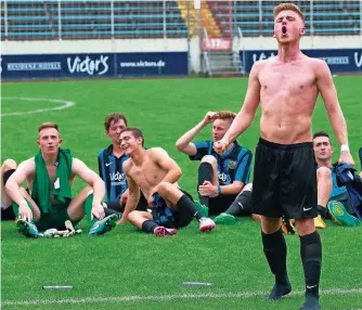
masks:
<instances>
[{"instance_id":1,"label":"shirtless man standing and shouting in black shorts and socks","mask_svg":"<svg viewBox=\"0 0 362 310\"><path fill-rule=\"evenodd\" d=\"M253 208L261 215L263 251L275 275L268 299L281 299L292 290L286 270L286 245L281 216L296 219L306 279L306 301L300 309L320 309L319 283L322 245L313 218L316 207L316 172L311 118L321 93L340 147L339 162L353 165L348 148L347 126L331 72L324 61L301 53L306 34L303 14L293 3L274 8L279 53L256 62L241 112L215 148L222 153L244 132L261 105L260 140L256 150Z\"/></svg>"}]
</instances>

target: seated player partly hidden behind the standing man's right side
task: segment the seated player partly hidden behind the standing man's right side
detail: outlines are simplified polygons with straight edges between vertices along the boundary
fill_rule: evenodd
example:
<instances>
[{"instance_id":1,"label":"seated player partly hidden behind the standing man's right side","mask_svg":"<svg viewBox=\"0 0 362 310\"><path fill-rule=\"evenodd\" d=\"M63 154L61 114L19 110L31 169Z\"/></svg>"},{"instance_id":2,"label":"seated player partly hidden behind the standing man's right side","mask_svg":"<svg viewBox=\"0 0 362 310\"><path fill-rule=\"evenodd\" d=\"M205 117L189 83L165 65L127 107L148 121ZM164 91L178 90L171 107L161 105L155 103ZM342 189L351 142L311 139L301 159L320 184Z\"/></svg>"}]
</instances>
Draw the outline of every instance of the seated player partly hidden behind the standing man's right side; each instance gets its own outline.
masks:
<instances>
[{"instance_id":1,"label":"seated player partly hidden behind the standing man's right side","mask_svg":"<svg viewBox=\"0 0 362 310\"><path fill-rule=\"evenodd\" d=\"M352 216L346 186L339 188L336 180L336 168L332 164L333 146L328 133L315 132L313 135L313 148L316 160L318 180L318 209L319 217L314 219L316 228L325 228L322 218L328 214L341 225L355 227L359 220Z\"/></svg>"}]
</instances>

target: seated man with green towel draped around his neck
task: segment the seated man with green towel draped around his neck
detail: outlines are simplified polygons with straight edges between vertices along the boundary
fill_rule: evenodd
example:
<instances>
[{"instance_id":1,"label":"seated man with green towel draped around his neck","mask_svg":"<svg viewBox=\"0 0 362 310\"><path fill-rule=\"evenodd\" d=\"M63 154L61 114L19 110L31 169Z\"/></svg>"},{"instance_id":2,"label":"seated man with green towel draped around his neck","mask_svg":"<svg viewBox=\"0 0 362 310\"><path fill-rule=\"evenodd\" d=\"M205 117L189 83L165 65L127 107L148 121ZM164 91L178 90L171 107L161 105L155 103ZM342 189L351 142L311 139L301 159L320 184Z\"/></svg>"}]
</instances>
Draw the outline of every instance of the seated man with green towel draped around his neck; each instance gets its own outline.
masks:
<instances>
[{"instance_id":1,"label":"seated man with green towel draped around his neck","mask_svg":"<svg viewBox=\"0 0 362 310\"><path fill-rule=\"evenodd\" d=\"M38 132L38 154L21 163L5 184L7 193L14 203L14 212L18 217L20 231L27 236L37 237L38 229L63 230L66 220L76 225L85 214L90 223L90 234L102 234L111 230L117 216L104 217L101 204L104 183L101 178L83 162L73 158L68 150L60 147L63 140L56 124L44 122L40 125ZM72 198L70 186L76 176L91 188L87 186ZM21 185L25 181L35 204L29 204L23 195Z\"/></svg>"}]
</instances>

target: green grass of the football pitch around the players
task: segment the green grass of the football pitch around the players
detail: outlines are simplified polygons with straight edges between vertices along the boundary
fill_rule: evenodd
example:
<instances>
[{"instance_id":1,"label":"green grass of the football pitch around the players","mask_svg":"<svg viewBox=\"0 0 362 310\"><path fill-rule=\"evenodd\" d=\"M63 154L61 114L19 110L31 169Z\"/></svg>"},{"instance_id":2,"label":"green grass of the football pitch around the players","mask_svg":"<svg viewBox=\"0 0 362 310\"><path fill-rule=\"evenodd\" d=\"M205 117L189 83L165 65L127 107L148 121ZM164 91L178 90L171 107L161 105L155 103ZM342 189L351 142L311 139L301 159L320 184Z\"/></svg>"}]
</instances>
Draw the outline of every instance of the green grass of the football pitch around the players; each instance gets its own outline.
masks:
<instances>
[{"instance_id":1,"label":"green grass of the football pitch around the players","mask_svg":"<svg viewBox=\"0 0 362 310\"><path fill-rule=\"evenodd\" d=\"M349 141L354 160L361 146L362 77L335 79L339 101L348 121ZM74 107L2 118L2 159L24 160L37 152L37 126L43 121L60 125L63 147L96 170L96 154L108 145L104 134L104 116L124 112L129 125L139 127L145 145L163 146L183 170L181 186L196 194L197 163L190 162L174 147L176 140L198 122L207 111L237 112L244 100L247 79L170 79L170 80L99 80L3 83L2 96L49 98L74 101ZM61 105L61 104L56 104ZM2 101L2 113L48 108L46 102ZM255 151L259 137L259 113L251 127L238 141ZM209 139L211 127L197 139ZM313 130L326 130L333 135L325 108L319 100L313 115ZM332 138L334 145L338 145ZM338 146L334 159L338 159ZM74 192L83 186L76 181ZM324 309L361 307L360 288L362 229L339 228L327 222L320 231L324 257L322 289L339 288L347 293L322 294ZM294 290L300 294L282 302L263 301L262 292L272 286L262 254L260 228L248 219L234 227L218 227L202 235L197 223L171 238L156 238L137 232L127 224L100 237L87 235L88 224L80 223L83 235L65 240L26 240L11 222L2 222L2 306L16 309L11 301L39 300L31 309L296 309L302 303L303 275L299 258L298 236L286 236L288 270ZM184 281L214 283L211 287L182 287ZM43 290L43 285L73 285L73 290ZM261 293L260 293L261 292ZM249 297L222 297L222 294L250 293ZM253 295L256 293L257 296ZM210 294L205 298L160 300L107 300L107 297ZM218 297L219 296L219 297ZM234 296L234 297L233 297ZM81 298L105 298L102 302ZM75 303L52 305L49 300L78 300ZM48 301L47 301L48 300ZM107 300L107 301L106 301Z\"/></svg>"}]
</instances>

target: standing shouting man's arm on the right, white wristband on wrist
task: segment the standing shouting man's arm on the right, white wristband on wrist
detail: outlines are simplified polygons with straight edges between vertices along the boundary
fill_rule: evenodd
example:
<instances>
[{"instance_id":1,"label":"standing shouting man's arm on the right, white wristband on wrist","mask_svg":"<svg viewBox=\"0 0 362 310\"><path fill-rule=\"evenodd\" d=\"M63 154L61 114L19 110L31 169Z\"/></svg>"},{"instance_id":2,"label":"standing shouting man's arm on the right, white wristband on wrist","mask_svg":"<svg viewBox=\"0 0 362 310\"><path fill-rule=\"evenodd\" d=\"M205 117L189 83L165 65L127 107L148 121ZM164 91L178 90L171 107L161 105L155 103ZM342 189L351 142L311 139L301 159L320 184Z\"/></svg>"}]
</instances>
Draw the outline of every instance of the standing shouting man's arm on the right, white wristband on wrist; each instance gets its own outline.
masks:
<instances>
[{"instance_id":1,"label":"standing shouting man's arm on the right, white wristband on wrist","mask_svg":"<svg viewBox=\"0 0 362 310\"><path fill-rule=\"evenodd\" d=\"M338 102L336 87L333 82L329 68L324 61L314 60L314 62L318 89L323 98L332 128L339 144L342 145L339 163L347 163L354 166L354 160L348 148L347 124Z\"/></svg>"}]
</instances>

